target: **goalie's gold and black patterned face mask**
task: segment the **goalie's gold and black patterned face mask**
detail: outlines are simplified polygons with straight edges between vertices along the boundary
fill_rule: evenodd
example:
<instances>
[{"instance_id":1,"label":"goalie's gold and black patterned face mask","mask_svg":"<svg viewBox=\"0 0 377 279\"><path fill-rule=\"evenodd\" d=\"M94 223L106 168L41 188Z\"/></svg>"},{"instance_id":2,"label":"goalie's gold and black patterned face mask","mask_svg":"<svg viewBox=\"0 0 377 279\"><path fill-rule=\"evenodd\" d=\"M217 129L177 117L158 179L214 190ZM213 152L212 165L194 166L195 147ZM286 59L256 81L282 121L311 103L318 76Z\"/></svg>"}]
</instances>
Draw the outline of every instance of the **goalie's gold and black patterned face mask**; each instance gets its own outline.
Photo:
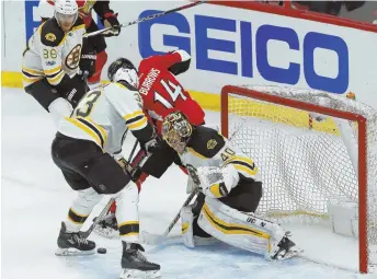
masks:
<instances>
[{"instance_id":1,"label":"goalie's gold and black patterned face mask","mask_svg":"<svg viewBox=\"0 0 377 279\"><path fill-rule=\"evenodd\" d=\"M193 126L181 112L169 114L162 121L162 138L179 154L182 154L193 133Z\"/></svg>"}]
</instances>

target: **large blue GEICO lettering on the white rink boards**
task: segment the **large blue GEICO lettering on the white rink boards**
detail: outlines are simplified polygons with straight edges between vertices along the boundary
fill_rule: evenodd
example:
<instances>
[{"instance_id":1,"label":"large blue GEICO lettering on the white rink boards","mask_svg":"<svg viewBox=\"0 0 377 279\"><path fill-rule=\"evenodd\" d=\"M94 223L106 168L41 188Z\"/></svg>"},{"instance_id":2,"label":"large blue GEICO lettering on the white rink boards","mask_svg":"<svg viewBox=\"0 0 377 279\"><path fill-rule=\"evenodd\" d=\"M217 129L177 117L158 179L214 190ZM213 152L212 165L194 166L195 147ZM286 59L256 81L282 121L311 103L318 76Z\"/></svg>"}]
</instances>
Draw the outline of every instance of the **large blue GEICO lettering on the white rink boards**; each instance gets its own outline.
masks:
<instances>
[{"instance_id":1,"label":"large blue GEICO lettering on the white rink boards","mask_svg":"<svg viewBox=\"0 0 377 279\"><path fill-rule=\"evenodd\" d=\"M147 10L139 18L157 12ZM179 34L167 34L164 31L170 30L167 25ZM301 80L309 88L333 93L344 93L349 88L349 47L336 35L298 33L276 24L202 14L195 14L191 24L185 15L175 13L139 25L138 46L142 57L160 54L153 47L158 35L162 35L164 46L191 53L197 70L239 75L251 82L255 78L296 85ZM328 65L331 69L327 69L335 74L316 71L316 59L321 59L316 53L321 53L322 57L336 56L336 61Z\"/></svg>"}]
</instances>

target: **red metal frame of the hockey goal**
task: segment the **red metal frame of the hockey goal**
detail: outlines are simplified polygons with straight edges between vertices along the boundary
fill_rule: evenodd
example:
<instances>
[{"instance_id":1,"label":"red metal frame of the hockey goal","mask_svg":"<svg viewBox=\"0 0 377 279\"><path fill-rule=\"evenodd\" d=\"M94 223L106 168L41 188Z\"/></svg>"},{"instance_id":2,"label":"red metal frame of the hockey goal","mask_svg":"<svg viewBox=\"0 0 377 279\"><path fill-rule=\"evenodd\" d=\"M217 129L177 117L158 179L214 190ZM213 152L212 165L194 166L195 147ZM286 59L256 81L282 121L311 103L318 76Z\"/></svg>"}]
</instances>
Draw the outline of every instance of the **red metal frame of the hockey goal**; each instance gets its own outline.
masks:
<instances>
[{"instance_id":1,"label":"red metal frame of the hockey goal","mask_svg":"<svg viewBox=\"0 0 377 279\"><path fill-rule=\"evenodd\" d=\"M258 90L256 90L258 89ZM368 231L367 231L367 212L368 212L368 182L367 182L367 121L368 119L362 113L345 112L338 108L331 108L313 103L307 103L300 100L295 100L292 96L279 96L272 94L263 89L275 89L276 92L284 88L275 86L250 86L250 85L225 85L220 93L220 121L221 133L229 137L229 95L238 95L242 97L250 97L252 100L267 102L286 107L306 111L308 113L317 113L325 116L342 118L349 121L357 123L357 154L358 154L358 269L361 274L368 272ZM293 89L288 89L293 90ZM304 90L311 92L310 90ZM276 93L275 92L275 93ZM324 93L321 91L312 91L317 93ZM334 94L330 94L334 95Z\"/></svg>"}]
</instances>

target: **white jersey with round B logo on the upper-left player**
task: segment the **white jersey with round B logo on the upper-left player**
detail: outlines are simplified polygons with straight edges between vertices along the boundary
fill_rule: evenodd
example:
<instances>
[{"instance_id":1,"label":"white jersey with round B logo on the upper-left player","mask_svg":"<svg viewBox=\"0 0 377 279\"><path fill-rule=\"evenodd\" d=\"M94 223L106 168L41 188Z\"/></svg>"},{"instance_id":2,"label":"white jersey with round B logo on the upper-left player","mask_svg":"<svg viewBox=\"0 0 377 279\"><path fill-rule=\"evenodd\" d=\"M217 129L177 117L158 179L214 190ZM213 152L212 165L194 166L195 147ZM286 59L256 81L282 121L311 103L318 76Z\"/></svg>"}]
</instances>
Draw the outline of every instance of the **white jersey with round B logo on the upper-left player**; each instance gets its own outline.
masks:
<instances>
[{"instance_id":1,"label":"white jersey with round B logo on the upper-left player","mask_svg":"<svg viewBox=\"0 0 377 279\"><path fill-rule=\"evenodd\" d=\"M47 78L52 85L58 85L65 73L72 77L79 70L83 21L78 18L71 31L65 33L55 18L43 23L28 39L22 62L24 88Z\"/></svg>"}]
</instances>

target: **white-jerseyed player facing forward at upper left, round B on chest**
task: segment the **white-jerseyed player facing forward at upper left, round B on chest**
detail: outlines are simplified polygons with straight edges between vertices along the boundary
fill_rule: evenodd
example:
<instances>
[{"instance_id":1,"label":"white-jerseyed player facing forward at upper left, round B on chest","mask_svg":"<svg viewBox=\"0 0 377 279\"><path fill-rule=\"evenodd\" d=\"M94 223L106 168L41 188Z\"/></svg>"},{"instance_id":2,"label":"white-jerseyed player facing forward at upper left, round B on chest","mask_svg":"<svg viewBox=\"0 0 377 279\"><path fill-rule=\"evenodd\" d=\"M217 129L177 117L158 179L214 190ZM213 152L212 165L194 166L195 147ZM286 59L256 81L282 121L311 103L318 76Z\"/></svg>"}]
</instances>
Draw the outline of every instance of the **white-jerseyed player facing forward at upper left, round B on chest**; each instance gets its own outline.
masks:
<instances>
[{"instance_id":1,"label":"white-jerseyed player facing forward at upper left, round B on chest","mask_svg":"<svg viewBox=\"0 0 377 279\"><path fill-rule=\"evenodd\" d=\"M76 0L56 0L54 18L36 30L23 54L24 90L56 121L69 116L88 91L83 73L90 75L94 71L93 61L80 63L85 54L84 33Z\"/></svg>"}]
</instances>

